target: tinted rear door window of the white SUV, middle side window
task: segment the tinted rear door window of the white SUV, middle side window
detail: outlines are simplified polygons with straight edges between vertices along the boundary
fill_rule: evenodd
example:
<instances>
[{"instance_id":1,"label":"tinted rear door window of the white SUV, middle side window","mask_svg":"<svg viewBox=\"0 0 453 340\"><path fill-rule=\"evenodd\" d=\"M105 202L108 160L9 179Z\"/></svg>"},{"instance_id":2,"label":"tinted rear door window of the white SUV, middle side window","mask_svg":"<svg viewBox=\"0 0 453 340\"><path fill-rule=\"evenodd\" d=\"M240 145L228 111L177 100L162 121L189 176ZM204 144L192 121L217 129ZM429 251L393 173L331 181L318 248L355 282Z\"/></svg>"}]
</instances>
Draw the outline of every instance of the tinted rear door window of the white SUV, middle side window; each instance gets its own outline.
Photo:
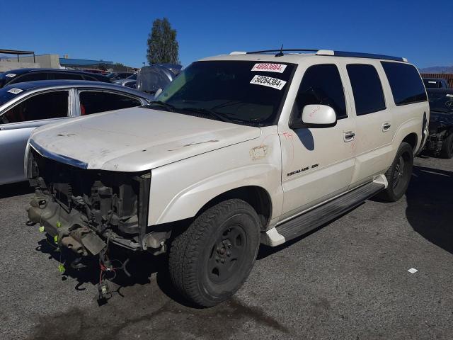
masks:
<instances>
[{"instance_id":1,"label":"tinted rear door window of the white SUV, middle side window","mask_svg":"<svg viewBox=\"0 0 453 340\"><path fill-rule=\"evenodd\" d=\"M354 95L355 113L366 115L385 109L384 92L376 69L368 64L346 66Z\"/></svg>"}]
</instances>

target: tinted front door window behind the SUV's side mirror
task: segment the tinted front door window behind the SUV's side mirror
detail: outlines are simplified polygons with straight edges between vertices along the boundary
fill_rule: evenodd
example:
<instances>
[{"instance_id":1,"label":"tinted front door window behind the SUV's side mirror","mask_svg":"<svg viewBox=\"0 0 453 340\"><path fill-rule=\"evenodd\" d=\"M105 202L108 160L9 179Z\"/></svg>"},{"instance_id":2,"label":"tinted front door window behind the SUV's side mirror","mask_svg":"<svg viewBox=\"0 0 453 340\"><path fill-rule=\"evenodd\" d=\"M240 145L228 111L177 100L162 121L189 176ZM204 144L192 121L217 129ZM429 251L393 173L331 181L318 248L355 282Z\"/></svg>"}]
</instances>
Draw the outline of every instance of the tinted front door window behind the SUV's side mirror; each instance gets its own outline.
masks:
<instances>
[{"instance_id":1,"label":"tinted front door window behind the SUV's side mirror","mask_svg":"<svg viewBox=\"0 0 453 340\"><path fill-rule=\"evenodd\" d=\"M310 104L330 106L337 119L348 117L343 84L335 64L314 65L306 70L294 103L293 117L300 119L304 106Z\"/></svg>"}]
</instances>

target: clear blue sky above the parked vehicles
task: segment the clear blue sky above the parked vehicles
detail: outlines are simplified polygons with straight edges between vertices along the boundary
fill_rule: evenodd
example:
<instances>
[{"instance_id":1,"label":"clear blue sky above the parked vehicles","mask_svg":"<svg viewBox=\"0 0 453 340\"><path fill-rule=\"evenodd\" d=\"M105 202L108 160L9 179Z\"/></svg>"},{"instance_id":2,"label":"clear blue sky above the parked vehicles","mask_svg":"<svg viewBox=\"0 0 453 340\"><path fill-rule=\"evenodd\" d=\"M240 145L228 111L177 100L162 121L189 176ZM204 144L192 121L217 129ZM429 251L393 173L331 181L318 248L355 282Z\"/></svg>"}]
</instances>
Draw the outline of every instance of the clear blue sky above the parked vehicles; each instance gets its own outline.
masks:
<instances>
[{"instance_id":1,"label":"clear blue sky above the parked vehicles","mask_svg":"<svg viewBox=\"0 0 453 340\"><path fill-rule=\"evenodd\" d=\"M453 65L453 0L435 1L7 1L0 48L146 61L155 18L178 31L180 60L233 50L324 48L407 57L418 67Z\"/></svg>"}]
</instances>

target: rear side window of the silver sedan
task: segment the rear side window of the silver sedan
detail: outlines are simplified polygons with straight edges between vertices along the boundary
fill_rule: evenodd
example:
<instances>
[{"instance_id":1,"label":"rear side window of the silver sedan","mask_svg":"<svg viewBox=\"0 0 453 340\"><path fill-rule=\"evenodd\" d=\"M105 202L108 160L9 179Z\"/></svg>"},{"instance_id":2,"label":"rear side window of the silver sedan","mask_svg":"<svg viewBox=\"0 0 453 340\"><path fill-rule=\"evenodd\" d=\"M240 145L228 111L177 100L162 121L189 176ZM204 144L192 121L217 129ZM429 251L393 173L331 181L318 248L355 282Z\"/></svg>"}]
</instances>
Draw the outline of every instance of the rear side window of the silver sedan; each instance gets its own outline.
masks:
<instances>
[{"instance_id":1,"label":"rear side window of the silver sedan","mask_svg":"<svg viewBox=\"0 0 453 340\"><path fill-rule=\"evenodd\" d=\"M81 91L79 98L81 115L142 106L137 98L111 92Z\"/></svg>"}]
</instances>

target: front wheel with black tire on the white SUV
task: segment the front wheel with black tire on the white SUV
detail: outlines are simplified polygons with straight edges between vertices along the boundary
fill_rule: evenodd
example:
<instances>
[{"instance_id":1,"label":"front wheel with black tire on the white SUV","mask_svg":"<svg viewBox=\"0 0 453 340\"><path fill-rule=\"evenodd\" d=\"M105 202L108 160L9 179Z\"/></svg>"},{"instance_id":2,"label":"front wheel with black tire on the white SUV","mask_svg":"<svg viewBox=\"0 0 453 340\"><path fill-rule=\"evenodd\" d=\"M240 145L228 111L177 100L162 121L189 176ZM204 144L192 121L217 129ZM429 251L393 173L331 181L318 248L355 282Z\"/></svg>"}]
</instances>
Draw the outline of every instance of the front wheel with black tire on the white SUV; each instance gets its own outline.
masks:
<instances>
[{"instance_id":1,"label":"front wheel with black tire on the white SUV","mask_svg":"<svg viewBox=\"0 0 453 340\"><path fill-rule=\"evenodd\" d=\"M259 244L256 211L243 200L225 200L173 240L168 259L171 281L195 305L217 305L248 278Z\"/></svg>"}]
</instances>

